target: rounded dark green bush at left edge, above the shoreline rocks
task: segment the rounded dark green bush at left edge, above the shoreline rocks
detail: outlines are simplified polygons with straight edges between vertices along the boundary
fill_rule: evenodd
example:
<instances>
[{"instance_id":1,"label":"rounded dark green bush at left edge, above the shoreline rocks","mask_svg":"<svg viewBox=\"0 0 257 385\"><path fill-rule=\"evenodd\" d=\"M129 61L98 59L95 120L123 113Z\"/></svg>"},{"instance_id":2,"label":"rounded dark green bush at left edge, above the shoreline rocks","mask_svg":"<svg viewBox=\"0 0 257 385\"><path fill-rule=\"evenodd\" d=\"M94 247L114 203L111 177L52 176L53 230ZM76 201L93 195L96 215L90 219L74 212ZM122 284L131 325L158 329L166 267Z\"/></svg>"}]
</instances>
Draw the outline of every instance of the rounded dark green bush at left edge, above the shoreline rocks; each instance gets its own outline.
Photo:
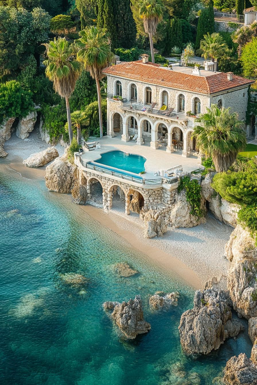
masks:
<instances>
[{"instance_id":1,"label":"rounded dark green bush at left edge, above the shoreline rocks","mask_svg":"<svg viewBox=\"0 0 257 385\"><path fill-rule=\"evenodd\" d=\"M0 83L0 123L8 117L25 117L35 109L32 93L16 80Z\"/></svg>"}]
</instances>

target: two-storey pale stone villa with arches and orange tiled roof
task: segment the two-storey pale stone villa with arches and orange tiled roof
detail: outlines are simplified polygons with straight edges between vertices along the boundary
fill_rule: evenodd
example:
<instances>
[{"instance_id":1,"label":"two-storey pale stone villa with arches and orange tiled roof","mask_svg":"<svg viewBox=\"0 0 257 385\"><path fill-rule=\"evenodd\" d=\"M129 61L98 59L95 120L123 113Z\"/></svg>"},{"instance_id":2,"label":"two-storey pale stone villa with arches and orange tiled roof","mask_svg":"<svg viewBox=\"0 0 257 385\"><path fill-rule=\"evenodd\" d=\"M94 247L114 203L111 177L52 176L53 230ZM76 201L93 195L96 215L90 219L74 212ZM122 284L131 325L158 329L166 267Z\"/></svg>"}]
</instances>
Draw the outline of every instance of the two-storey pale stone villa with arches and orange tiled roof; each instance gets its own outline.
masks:
<instances>
[{"instance_id":1,"label":"two-storey pale stone villa with arches and orange tiled roof","mask_svg":"<svg viewBox=\"0 0 257 385\"><path fill-rule=\"evenodd\" d=\"M136 62L121 62L106 68L107 133L136 144L149 141L153 149L166 139L166 151L174 147L182 156L196 154L191 138L195 117L211 104L232 107L245 120L249 79L192 67L161 67L148 62L148 55Z\"/></svg>"}]
</instances>

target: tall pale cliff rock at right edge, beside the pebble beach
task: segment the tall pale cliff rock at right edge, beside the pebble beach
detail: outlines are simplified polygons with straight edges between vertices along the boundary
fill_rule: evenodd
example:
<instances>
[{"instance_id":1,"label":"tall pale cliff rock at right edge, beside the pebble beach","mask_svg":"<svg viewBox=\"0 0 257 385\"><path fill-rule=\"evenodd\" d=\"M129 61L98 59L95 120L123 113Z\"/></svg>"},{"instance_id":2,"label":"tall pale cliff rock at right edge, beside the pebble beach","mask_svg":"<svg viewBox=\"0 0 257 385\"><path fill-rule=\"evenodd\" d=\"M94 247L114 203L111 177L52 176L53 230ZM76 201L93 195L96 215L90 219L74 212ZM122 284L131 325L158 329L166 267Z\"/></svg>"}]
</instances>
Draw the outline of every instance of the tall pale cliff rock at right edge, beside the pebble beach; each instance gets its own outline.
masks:
<instances>
[{"instance_id":1,"label":"tall pale cliff rock at right edge, beside the pebble beach","mask_svg":"<svg viewBox=\"0 0 257 385\"><path fill-rule=\"evenodd\" d=\"M249 319L257 316L257 247L247 229L238 225L225 246L225 256L232 262L227 288L233 308Z\"/></svg>"}]
</instances>

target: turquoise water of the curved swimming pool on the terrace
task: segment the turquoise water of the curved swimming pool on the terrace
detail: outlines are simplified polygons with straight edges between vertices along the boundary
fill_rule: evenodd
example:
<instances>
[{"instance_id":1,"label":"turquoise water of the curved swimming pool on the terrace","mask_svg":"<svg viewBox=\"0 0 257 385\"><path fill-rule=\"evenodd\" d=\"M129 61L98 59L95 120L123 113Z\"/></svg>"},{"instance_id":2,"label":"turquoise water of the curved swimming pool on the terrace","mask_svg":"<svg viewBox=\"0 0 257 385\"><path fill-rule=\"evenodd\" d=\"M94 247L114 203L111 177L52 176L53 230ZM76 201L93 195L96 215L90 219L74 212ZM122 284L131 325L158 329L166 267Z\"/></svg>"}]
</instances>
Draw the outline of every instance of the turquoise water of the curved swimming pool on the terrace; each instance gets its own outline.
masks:
<instances>
[{"instance_id":1,"label":"turquoise water of the curved swimming pool on the terrace","mask_svg":"<svg viewBox=\"0 0 257 385\"><path fill-rule=\"evenodd\" d=\"M145 170L145 161L146 158L143 156L135 154L126 154L126 152L114 150L104 152L104 154L101 154L101 158L97 159L94 162L138 174L139 172Z\"/></svg>"}]
</instances>

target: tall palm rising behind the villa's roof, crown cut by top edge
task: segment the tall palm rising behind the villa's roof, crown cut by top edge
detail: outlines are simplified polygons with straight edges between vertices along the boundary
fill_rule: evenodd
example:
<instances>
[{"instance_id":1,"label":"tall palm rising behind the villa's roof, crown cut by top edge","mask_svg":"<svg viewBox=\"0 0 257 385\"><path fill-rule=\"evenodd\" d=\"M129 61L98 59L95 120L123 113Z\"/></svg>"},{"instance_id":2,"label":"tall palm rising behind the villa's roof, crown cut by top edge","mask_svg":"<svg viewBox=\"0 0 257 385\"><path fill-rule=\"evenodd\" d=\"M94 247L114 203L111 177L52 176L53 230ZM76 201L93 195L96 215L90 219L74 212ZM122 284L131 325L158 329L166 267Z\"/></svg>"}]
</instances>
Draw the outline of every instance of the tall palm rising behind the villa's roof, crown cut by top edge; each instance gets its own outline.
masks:
<instances>
[{"instance_id":1,"label":"tall palm rising behind the villa's roof, crown cut by top edge","mask_svg":"<svg viewBox=\"0 0 257 385\"><path fill-rule=\"evenodd\" d=\"M149 35L152 63L155 62L153 50L153 35L158 23L163 18L163 3L161 0L139 0L139 16L144 21L144 30Z\"/></svg>"}]
</instances>

